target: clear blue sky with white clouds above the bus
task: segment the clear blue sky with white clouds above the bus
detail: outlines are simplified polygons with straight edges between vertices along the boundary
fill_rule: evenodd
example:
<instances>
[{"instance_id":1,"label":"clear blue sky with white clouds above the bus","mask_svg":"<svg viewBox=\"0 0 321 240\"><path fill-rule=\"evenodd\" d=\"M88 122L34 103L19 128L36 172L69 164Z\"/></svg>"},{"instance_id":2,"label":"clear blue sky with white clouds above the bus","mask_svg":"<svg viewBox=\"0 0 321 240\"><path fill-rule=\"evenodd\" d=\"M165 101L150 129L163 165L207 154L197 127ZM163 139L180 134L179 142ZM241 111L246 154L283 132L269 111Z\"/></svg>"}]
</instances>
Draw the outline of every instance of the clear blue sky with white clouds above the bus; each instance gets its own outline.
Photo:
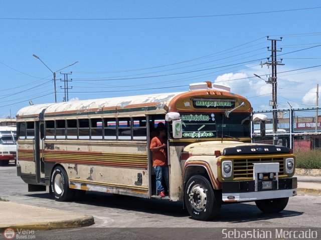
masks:
<instances>
[{"instance_id":1,"label":"clear blue sky with white clouds above the bus","mask_svg":"<svg viewBox=\"0 0 321 240\"><path fill-rule=\"evenodd\" d=\"M313 107L320 15L315 0L2 1L0 118L30 100L55 102L52 72L57 102L65 96L63 73L72 72L69 100L188 91L190 83L212 81L256 111L271 109L267 36L278 40L284 64L277 65L277 107Z\"/></svg>"}]
</instances>

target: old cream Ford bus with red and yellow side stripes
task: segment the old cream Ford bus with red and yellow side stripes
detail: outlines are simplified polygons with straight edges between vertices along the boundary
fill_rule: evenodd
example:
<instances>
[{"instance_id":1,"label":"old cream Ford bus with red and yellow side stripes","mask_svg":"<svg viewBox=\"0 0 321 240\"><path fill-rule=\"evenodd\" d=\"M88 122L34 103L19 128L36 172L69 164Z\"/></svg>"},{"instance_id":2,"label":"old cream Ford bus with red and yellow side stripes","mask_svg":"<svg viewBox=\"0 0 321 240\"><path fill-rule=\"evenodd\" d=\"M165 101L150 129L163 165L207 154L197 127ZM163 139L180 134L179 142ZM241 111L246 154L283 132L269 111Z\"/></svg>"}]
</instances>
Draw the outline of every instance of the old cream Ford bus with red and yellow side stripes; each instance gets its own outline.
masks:
<instances>
[{"instance_id":1,"label":"old cream Ford bus with red and yellow side stripes","mask_svg":"<svg viewBox=\"0 0 321 240\"><path fill-rule=\"evenodd\" d=\"M251 143L250 102L226 87L194 83L187 92L30 105L19 110L18 175L29 191L58 201L85 191L182 201L209 220L222 203L255 201L283 210L296 195L295 157L283 146ZM151 136L167 128L169 194L156 192Z\"/></svg>"}]
</instances>

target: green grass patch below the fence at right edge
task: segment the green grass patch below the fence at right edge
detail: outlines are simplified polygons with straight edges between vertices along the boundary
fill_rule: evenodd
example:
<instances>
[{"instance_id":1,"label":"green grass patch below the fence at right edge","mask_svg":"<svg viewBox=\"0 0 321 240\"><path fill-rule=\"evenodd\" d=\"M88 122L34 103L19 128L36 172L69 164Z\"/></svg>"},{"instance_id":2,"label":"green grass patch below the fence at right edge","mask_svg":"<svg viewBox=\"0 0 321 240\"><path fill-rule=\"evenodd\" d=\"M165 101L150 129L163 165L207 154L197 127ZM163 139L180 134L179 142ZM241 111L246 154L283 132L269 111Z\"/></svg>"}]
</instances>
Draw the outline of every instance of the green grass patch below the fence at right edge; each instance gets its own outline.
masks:
<instances>
[{"instance_id":1,"label":"green grass patch below the fence at right edge","mask_svg":"<svg viewBox=\"0 0 321 240\"><path fill-rule=\"evenodd\" d=\"M296 168L321 169L321 150L298 150L294 155Z\"/></svg>"}]
</instances>

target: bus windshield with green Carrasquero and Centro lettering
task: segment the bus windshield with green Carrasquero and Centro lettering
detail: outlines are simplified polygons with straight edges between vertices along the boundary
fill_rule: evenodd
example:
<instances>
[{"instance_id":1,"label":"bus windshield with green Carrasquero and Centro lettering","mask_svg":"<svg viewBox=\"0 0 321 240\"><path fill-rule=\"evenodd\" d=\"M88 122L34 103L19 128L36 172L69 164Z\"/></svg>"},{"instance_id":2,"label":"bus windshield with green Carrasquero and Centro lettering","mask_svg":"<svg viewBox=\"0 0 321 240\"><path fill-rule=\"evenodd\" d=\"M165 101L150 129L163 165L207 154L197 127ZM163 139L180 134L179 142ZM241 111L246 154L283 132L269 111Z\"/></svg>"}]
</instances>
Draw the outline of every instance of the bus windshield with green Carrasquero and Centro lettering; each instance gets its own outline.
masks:
<instances>
[{"instance_id":1,"label":"bus windshield with green Carrasquero and Centro lettering","mask_svg":"<svg viewBox=\"0 0 321 240\"><path fill-rule=\"evenodd\" d=\"M183 138L250 137L250 113L182 112Z\"/></svg>"}]
</instances>

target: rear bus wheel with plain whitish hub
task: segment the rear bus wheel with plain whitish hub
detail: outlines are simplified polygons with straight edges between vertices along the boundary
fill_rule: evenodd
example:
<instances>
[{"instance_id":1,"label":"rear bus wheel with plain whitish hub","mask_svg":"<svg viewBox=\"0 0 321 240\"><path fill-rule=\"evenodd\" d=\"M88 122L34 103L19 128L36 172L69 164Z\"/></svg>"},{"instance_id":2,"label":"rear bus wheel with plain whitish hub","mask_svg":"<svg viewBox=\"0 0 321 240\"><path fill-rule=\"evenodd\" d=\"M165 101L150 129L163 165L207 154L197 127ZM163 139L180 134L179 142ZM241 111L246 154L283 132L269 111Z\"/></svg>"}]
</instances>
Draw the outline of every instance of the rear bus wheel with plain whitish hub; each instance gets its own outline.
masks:
<instances>
[{"instance_id":1,"label":"rear bus wheel with plain whitish hub","mask_svg":"<svg viewBox=\"0 0 321 240\"><path fill-rule=\"evenodd\" d=\"M53 170L50 186L57 201L70 201L75 194L75 190L69 188L68 176L62 166L56 166Z\"/></svg>"}]
</instances>

